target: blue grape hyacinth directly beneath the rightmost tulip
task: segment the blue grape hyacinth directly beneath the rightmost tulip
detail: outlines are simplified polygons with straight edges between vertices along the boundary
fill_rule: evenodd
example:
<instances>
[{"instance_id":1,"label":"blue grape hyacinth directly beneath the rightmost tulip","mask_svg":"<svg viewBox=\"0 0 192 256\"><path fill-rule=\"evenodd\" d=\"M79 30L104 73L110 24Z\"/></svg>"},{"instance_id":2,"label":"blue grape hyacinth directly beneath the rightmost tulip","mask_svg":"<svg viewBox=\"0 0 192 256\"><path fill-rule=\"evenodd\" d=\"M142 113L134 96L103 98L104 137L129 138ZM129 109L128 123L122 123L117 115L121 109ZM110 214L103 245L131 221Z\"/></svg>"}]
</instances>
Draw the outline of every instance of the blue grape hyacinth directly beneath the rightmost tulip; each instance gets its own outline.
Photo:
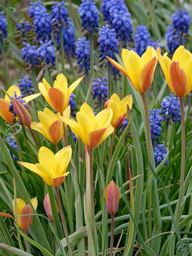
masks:
<instances>
[{"instance_id":1,"label":"blue grape hyacinth directly beneath the rightmost tulip","mask_svg":"<svg viewBox=\"0 0 192 256\"><path fill-rule=\"evenodd\" d=\"M174 94L165 97L161 103L163 119L168 122L179 122L181 118L181 109L179 98Z\"/></svg>"}]
</instances>

